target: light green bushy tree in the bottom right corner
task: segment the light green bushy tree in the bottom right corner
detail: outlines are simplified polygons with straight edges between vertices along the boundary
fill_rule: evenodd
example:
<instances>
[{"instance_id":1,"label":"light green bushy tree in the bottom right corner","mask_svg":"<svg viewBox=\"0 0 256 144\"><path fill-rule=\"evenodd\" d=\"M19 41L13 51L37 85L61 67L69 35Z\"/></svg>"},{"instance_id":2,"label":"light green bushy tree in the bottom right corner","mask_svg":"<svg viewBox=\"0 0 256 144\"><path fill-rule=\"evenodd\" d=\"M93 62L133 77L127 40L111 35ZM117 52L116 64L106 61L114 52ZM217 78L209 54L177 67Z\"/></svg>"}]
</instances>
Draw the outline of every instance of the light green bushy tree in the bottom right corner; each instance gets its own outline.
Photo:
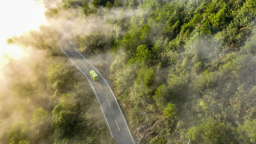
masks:
<instances>
[{"instance_id":1,"label":"light green bushy tree in the bottom right corner","mask_svg":"<svg viewBox=\"0 0 256 144\"><path fill-rule=\"evenodd\" d=\"M256 119L247 121L237 128L241 143L254 144L256 142Z\"/></svg>"}]
</instances>

